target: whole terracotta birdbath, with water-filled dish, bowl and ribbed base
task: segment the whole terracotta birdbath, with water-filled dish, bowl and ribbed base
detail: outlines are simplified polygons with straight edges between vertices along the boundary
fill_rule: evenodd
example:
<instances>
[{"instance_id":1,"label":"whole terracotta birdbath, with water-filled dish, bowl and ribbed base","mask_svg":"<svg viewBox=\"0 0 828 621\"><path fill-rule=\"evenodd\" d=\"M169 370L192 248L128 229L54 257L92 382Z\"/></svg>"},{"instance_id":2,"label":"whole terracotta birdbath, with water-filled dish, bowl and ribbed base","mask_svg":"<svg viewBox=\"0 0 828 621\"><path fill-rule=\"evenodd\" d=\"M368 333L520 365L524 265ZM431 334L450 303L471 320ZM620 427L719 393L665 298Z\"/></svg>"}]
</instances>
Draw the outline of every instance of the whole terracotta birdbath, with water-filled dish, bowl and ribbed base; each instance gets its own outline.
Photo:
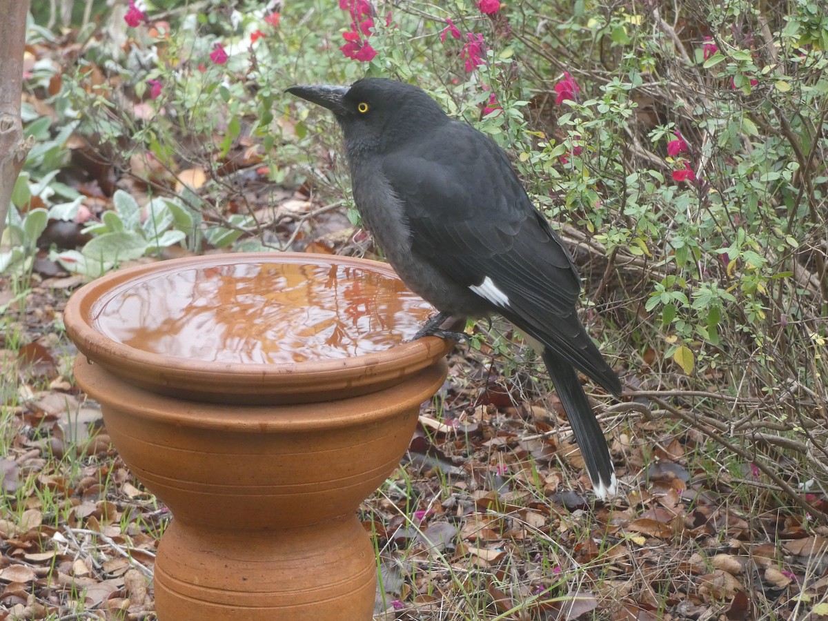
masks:
<instances>
[{"instance_id":1,"label":"whole terracotta birdbath, with water-filled dish, bowl and ribbed base","mask_svg":"<svg viewBox=\"0 0 828 621\"><path fill-rule=\"evenodd\" d=\"M451 344L407 342L430 312L387 265L314 254L176 259L75 292L75 378L174 516L161 621L372 618L355 510L445 380Z\"/></svg>"}]
</instances>

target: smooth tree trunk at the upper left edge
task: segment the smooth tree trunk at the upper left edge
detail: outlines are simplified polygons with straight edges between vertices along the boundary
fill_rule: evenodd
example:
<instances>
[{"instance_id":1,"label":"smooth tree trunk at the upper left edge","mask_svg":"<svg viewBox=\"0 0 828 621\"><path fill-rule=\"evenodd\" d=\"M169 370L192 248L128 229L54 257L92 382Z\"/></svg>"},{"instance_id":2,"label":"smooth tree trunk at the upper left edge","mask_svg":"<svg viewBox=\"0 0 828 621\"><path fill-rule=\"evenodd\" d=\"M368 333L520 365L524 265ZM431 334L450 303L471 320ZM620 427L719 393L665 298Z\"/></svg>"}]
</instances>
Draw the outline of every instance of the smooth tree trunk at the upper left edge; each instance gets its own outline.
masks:
<instances>
[{"instance_id":1,"label":"smooth tree trunk at the upper left edge","mask_svg":"<svg viewBox=\"0 0 828 621\"><path fill-rule=\"evenodd\" d=\"M0 0L0 237L14 184L31 149L20 119L28 12L29 0Z\"/></svg>"}]
</instances>

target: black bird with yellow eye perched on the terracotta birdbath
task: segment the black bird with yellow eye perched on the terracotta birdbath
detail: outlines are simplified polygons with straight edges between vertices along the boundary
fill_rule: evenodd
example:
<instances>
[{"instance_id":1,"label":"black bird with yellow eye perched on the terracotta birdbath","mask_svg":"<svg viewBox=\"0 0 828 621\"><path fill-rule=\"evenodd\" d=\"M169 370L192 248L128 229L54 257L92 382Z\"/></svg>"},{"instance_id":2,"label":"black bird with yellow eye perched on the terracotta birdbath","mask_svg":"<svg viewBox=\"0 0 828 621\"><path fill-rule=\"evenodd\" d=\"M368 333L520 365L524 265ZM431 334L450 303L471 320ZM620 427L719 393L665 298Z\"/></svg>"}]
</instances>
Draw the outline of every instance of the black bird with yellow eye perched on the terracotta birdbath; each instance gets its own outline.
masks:
<instances>
[{"instance_id":1,"label":"black bird with yellow eye perched on the terracotta birdbath","mask_svg":"<svg viewBox=\"0 0 828 621\"><path fill-rule=\"evenodd\" d=\"M450 316L502 315L542 355L599 498L616 489L604 434L575 368L609 392L621 383L575 312L580 277L503 149L449 118L423 90L390 79L293 86L344 132L363 223L406 285Z\"/></svg>"}]
</instances>

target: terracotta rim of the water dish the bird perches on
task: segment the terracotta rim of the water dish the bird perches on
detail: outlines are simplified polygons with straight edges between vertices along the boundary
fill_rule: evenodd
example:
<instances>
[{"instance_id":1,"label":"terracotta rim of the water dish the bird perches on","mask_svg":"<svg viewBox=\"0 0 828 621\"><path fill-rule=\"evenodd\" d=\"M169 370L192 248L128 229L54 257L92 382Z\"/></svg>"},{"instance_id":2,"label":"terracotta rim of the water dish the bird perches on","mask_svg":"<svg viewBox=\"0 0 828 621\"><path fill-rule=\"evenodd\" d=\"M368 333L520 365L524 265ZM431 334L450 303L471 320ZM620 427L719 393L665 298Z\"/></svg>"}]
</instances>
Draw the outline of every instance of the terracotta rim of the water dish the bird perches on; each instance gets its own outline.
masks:
<instances>
[{"instance_id":1,"label":"terracotta rim of the water dish the bird perches on","mask_svg":"<svg viewBox=\"0 0 828 621\"><path fill-rule=\"evenodd\" d=\"M301 403L355 397L402 383L454 346L425 337L380 351L342 359L292 363L217 362L186 359L137 349L104 335L95 325L96 303L125 282L186 268L238 263L334 265L376 272L398 280L386 263L315 253L238 253L170 259L111 272L81 287L64 311L66 331L81 354L119 378L157 394L217 403ZM424 317L425 319L425 317Z\"/></svg>"}]
</instances>

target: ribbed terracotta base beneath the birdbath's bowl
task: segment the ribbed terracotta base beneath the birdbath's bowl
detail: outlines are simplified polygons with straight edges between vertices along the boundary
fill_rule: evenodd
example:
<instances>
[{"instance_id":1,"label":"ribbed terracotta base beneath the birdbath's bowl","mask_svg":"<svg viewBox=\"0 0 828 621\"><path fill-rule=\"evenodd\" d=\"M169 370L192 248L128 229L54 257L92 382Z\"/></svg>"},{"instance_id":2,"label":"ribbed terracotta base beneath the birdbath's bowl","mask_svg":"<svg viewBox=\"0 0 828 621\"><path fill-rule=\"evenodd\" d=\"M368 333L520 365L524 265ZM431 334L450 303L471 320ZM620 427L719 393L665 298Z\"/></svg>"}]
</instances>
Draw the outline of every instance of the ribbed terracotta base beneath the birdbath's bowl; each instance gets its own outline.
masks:
<instances>
[{"instance_id":1,"label":"ribbed terracotta base beneath the birdbath's bowl","mask_svg":"<svg viewBox=\"0 0 828 621\"><path fill-rule=\"evenodd\" d=\"M370 621L377 566L354 514L279 532L174 519L155 566L159 621Z\"/></svg>"}]
</instances>

